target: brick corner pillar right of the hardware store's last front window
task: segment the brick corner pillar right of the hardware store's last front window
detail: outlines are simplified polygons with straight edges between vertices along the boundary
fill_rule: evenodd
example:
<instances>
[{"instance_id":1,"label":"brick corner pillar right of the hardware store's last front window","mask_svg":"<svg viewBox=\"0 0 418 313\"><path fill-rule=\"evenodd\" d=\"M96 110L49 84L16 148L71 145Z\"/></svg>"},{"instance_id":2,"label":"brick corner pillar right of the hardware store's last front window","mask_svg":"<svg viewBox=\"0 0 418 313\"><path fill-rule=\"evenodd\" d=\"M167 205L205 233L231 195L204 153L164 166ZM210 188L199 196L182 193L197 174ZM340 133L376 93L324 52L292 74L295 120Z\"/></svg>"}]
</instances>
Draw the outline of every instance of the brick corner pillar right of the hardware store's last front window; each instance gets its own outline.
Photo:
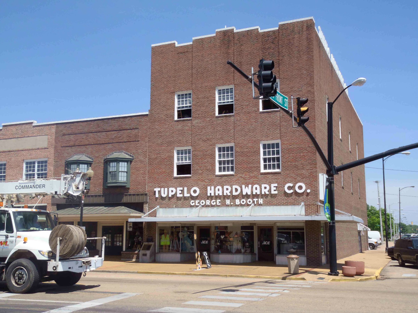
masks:
<instances>
[{"instance_id":1,"label":"brick corner pillar right of the hardware store's last front window","mask_svg":"<svg viewBox=\"0 0 418 313\"><path fill-rule=\"evenodd\" d=\"M306 247L306 265L319 266L322 265L321 252L321 222L306 221L305 222L305 247Z\"/></svg>"}]
</instances>

